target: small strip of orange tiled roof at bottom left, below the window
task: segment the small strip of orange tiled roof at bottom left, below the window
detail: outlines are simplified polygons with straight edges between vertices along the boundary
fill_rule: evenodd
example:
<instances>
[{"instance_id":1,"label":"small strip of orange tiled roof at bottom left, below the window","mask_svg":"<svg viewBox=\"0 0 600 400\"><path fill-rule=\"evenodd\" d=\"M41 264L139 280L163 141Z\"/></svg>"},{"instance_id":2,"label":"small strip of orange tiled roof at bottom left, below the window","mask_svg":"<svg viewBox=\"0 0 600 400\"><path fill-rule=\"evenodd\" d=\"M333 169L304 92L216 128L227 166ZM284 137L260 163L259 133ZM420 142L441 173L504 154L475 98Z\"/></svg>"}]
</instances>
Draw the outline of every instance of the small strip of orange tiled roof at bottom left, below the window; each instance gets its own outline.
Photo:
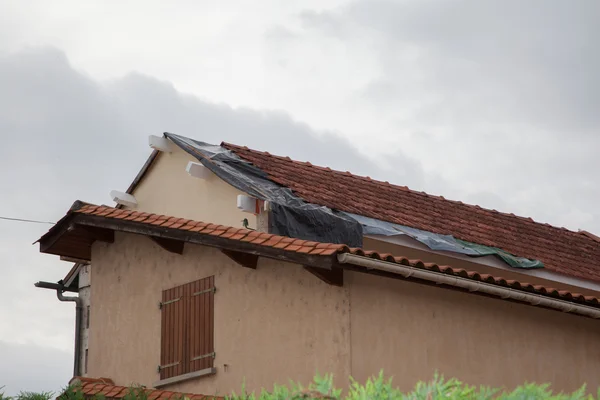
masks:
<instances>
[{"instance_id":1,"label":"small strip of orange tiled roof at bottom left, below the window","mask_svg":"<svg viewBox=\"0 0 600 400\"><path fill-rule=\"evenodd\" d=\"M74 377L69 382L69 385L72 386L80 386L80 390L83 393L85 398L91 398L94 395L102 395L105 399L122 399L124 398L132 389L135 390L134 387L129 388L126 386L117 386L112 381L112 379L108 378L83 378L83 377ZM192 394L192 393L182 393L182 392L171 392L167 390L158 390L158 389L144 389L140 388L140 390L145 390L147 400L179 400L187 397L190 400L200 400L200 399L222 399L223 397L218 396L207 396L202 394ZM60 396L59 396L60 398Z\"/></svg>"}]
</instances>

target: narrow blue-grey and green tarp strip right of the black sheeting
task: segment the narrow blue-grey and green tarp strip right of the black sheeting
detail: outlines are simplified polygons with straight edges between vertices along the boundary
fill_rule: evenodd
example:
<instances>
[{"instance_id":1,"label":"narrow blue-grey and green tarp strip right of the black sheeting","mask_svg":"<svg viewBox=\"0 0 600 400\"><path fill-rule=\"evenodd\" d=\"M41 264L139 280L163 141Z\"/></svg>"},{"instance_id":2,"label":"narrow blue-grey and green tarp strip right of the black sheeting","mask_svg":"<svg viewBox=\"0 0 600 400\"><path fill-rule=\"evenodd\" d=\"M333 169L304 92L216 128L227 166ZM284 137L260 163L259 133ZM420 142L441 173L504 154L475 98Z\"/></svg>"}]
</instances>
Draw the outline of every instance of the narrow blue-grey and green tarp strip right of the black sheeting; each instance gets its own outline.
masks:
<instances>
[{"instance_id":1,"label":"narrow blue-grey and green tarp strip right of the black sheeting","mask_svg":"<svg viewBox=\"0 0 600 400\"><path fill-rule=\"evenodd\" d=\"M544 264L541 261L516 257L496 247L465 242L450 235L440 235L437 233L422 231L420 229L364 217L362 215L350 213L345 214L348 217L355 219L362 225L363 233L365 235L407 235L435 251L451 251L471 257L495 255L514 268L532 269L544 267Z\"/></svg>"}]
</instances>

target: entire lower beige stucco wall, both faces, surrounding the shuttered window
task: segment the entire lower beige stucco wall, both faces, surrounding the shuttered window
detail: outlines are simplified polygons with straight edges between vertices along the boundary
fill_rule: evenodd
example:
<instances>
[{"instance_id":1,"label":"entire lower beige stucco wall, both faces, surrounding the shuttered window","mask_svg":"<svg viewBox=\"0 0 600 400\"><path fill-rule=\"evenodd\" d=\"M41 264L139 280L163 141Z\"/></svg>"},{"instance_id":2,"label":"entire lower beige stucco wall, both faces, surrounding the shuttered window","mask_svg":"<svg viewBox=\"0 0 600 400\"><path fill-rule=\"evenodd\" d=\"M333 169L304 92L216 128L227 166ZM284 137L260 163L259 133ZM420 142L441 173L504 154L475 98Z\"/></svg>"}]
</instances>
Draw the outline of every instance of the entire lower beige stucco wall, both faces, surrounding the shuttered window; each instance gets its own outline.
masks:
<instances>
[{"instance_id":1,"label":"entire lower beige stucco wall, both faces, surrounding the shuttered window","mask_svg":"<svg viewBox=\"0 0 600 400\"><path fill-rule=\"evenodd\" d=\"M316 371L366 379L384 369L402 389L435 370L471 384L600 385L597 321L433 286L345 271L343 288L299 265L243 268L218 249L183 255L116 234L92 249L89 375L158 380L161 291L215 275L216 375L168 386L204 394L308 383Z\"/></svg>"}]
</instances>

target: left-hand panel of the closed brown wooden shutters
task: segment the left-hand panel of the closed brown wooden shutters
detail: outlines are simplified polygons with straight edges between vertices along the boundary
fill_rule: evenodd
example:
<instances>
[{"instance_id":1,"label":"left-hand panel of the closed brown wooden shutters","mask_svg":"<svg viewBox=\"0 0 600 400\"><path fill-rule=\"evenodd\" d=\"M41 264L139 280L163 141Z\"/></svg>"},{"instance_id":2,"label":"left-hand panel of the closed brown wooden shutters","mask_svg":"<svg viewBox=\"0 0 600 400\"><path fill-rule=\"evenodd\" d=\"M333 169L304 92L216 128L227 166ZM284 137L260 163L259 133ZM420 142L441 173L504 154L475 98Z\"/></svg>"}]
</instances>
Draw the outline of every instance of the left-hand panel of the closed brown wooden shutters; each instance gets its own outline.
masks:
<instances>
[{"instance_id":1,"label":"left-hand panel of the closed brown wooden shutters","mask_svg":"<svg viewBox=\"0 0 600 400\"><path fill-rule=\"evenodd\" d=\"M163 290L161 302L160 379L186 372L189 286Z\"/></svg>"}]
</instances>

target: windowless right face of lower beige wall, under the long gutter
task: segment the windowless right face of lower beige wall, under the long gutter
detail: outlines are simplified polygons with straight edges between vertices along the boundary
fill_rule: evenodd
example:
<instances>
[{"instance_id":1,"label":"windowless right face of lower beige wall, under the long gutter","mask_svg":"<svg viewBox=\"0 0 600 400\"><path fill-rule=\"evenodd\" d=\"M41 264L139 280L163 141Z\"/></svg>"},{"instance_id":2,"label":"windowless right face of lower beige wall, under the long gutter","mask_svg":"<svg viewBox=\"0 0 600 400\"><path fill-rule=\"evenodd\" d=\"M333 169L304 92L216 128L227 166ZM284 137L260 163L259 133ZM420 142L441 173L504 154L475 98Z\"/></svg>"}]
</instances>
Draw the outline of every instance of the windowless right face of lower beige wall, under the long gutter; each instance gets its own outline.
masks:
<instances>
[{"instance_id":1,"label":"windowless right face of lower beige wall, under the long gutter","mask_svg":"<svg viewBox=\"0 0 600 400\"><path fill-rule=\"evenodd\" d=\"M437 370L470 384L600 385L600 322L432 286L352 274L352 373L409 390Z\"/></svg>"}]
</instances>

